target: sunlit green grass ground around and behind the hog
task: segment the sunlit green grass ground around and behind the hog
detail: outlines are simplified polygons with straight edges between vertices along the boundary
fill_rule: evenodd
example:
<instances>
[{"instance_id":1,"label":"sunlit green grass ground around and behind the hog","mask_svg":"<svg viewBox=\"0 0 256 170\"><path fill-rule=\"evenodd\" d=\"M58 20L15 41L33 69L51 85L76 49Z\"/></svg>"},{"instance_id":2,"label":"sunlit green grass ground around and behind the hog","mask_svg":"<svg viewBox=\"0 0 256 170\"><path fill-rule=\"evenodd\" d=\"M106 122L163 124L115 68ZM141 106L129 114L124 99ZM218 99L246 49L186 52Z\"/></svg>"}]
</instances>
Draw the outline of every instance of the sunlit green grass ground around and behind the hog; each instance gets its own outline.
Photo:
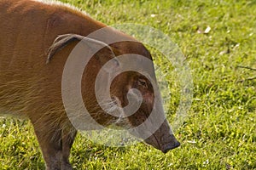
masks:
<instances>
[{"instance_id":1,"label":"sunlit green grass ground around and behind the hog","mask_svg":"<svg viewBox=\"0 0 256 170\"><path fill-rule=\"evenodd\" d=\"M129 22L164 31L185 54L194 81L189 119L176 132L180 148L163 155L144 144L111 148L79 135L71 156L75 169L256 168L256 80L247 80L256 71L237 67L256 68L255 1L63 2L108 25ZM207 26L211 30L202 33ZM179 92L175 80L168 81L174 84L172 114ZM1 119L0 146L0 169L44 168L29 122Z\"/></svg>"}]
</instances>

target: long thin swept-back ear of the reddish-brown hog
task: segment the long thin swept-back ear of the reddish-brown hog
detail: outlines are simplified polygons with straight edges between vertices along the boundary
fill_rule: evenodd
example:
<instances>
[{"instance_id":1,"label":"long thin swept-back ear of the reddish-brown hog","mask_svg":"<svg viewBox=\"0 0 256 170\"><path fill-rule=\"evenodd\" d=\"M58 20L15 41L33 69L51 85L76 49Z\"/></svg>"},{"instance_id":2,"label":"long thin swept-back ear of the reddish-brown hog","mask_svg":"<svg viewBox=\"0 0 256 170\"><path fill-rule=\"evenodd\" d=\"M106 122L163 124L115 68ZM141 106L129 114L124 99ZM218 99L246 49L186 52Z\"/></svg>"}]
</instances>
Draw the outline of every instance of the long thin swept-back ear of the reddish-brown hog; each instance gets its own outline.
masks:
<instances>
[{"instance_id":1,"label":"long thin swept-back ear of the reddish-brown hog","mask_svg":"<svg viewBox=\"0 0 256 170\"><path fill-rule=\"evenodd\" d=\"M86 43L86 45L90 49L99 49L104 48L102 50L102 53L96 55L96 59L100 61L101 65L104 65L109 59L113 59L112 61L114 62L113 64L115 66L119 66L119 61L118 59L115 58L115 53L118 53L116 49L113 49L110 47L107 43L101 42L89 37L83 37L77 34L64 34L59 37L55 38L55 41L53 44L50 46L48 50L48 58L47 58L47 63L53 58L55 54L61 51L61 49L65 48L68 44L71 42L80 42L83 41ZM115 52L115 53L114 53Z\"/></svg>"}]
</instances>

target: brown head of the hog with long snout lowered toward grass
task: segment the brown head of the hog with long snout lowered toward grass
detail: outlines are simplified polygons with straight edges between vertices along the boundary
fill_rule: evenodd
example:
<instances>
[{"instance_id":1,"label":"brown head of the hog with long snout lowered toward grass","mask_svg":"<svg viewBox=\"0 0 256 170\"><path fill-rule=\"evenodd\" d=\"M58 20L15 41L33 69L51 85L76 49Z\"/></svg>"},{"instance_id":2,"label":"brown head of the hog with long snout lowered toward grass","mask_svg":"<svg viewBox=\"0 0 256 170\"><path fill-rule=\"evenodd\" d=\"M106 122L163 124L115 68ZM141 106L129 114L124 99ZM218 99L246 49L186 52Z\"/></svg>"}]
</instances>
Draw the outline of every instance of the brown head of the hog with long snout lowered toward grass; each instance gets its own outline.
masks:
<instances>
[{"instance_id":1,"label":"brown head of the hog with long snout lowered toward grass","mask_svg":"<svg viewBox=\"0 0 256 170\"><path fill-rule=\"evenodd\" d=\"M140 42L119 43L113 45L113 51L119 49L115 55L123 73L115 77L110 88L113 99L123 108L124 118L119 119L119 125L166 153L180 144L164 114L151 54ZM130 50L121 50L127 49L124 46Z\"/></svg>"}]
</instances>

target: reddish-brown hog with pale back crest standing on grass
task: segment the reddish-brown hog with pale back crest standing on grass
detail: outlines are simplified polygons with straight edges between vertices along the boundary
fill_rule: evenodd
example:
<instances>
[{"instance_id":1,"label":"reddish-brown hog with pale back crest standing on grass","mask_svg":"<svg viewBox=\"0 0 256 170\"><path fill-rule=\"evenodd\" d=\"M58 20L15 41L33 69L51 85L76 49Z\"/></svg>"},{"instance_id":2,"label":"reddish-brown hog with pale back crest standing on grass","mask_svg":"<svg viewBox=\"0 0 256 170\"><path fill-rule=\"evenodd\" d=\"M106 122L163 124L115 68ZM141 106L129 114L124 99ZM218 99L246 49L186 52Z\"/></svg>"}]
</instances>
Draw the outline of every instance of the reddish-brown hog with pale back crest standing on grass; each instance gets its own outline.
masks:
<instances>
[{"instance_id":1,"label":"reddish-brown hog with pale back crest standing on grass","mask_svg":"<svg viewBox=\"0 0 256 170\"><path fill-rule=\"evenodd\" d=\"M103 31L97 36L90 36L101 29ZM123 71L113 78L109 96L112 104L119 106L115 113L118 116L109 114L98 104L96 77L108 61L114 62L106 72L125 66L118 56L140 55L150 60L150 69L154 71L148 49L133 37L92 20L78 9L61 3L34 0L0 1L0 35L0 114L24 116L32 122L46 169L72 169L68 157L77 128L63 104L65 89L63 91L62 86L68 56L80 43L85 50L81 63L87 54L93 54L82 72L79 91L90 117L103 127L116 124L125 129L139 127L149 120L146 126L131 130L131 134L164 153L179 145L164 116L159 92L155 92L158 88L154 88L152 83L156 82L154 72L148 73L152 80L137 71ZM109 43L112 37L124 41ZM94 50L96 52L92 53ZM132 65L142 65L132 57L129 60L134 62ZM66 69L67 74L78 67L71 65L70 70ZM107 82L102 83L100 88L105 86L108 87ZM122 118L120 115L125 115L127 111L122 108L134 99L131 89L139 91L139 95L133 95L140 97L140 105L134 114ZM72 95L69 99L76 103ZM76 111L73 112L76 114ZM157 116L150 118L151 112ZM164 118L157 127L158 117ZM151 127L157 129L151 133Z\"/></svg>"}]
</instances>

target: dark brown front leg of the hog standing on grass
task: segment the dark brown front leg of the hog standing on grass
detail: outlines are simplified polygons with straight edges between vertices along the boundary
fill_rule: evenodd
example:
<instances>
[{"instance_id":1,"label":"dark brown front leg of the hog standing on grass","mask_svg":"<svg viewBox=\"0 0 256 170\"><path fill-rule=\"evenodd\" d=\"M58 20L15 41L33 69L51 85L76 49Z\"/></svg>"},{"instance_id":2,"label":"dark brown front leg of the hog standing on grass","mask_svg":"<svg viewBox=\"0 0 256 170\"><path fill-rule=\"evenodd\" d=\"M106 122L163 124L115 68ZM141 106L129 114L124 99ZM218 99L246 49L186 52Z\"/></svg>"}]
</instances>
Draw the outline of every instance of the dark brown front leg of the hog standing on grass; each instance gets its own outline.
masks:
<instances>
[{"instance_id":1,"label":"dark brown front leg of the hog standing on grass","mask_svg":"<svg viewBox=\"0 0 256 170\"><path fill-rule=\"evenodd\" d=\"M49 118L49 117L48 117ZM32 122L38 143L42 150L46 170L73 169L68 158L77 131L72 126L63 126L58 123Z\"/></svg>"}]
</instances>

